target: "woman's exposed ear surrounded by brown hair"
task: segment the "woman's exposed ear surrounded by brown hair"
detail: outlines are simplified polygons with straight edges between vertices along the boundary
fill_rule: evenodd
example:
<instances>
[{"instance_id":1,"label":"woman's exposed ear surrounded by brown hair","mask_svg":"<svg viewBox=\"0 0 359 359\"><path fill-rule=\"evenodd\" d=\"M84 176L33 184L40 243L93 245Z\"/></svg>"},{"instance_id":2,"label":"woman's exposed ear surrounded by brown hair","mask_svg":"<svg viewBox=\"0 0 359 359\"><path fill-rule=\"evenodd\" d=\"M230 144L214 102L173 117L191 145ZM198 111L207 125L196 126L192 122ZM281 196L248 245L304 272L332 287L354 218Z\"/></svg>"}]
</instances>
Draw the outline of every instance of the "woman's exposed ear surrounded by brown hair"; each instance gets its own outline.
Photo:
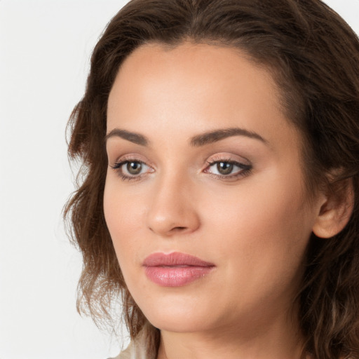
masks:
<instances>
[{"instance_id":1,"label":"woman's exposed ear surrounded by brown hair","mask_svg":"<svg viewBox=\"0 0 359 359\"><path fill-rule=\"evenodd\" d=\"M330 238L344 229L354 208L351 178L331 185L325 192L321 197L322 203L313 226L313 233L320 238Z\"/></svg>"}]
</instances>

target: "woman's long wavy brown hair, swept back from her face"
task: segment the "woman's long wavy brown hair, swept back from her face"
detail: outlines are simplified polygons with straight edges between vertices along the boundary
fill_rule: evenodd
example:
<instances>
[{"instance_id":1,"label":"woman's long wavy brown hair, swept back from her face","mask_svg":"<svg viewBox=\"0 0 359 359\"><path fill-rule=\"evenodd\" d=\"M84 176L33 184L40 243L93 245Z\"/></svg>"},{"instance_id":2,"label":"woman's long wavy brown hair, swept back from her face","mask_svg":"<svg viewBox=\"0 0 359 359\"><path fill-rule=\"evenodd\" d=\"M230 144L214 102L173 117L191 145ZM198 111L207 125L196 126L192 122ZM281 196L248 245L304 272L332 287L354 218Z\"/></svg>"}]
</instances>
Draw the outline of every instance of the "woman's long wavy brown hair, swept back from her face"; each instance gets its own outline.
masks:
<instances>
[{"instance_id":1,"label":"woman's long wavy brown hair, swept back from her face","mask_svg":"<svg viewBox=\"0 0 359 359\"><path fill-rule=\"evenodd\" d=\"M340 169L334 183L353 181L351 219L337 236L312 235L297 300L306 352L317 359L359 358L359 41L320 0L132 0L109 22L69 120L69 156L82 164L79 187L65 207L83 255L78 309L100 323L120 294L131 337L142 330L156 355L159 331L128 292L104 221L107 99L135 48L184 41L238 48L271 71L283 111L304 139L309 191L333 169Z\"/></svg>"}]
</instances>

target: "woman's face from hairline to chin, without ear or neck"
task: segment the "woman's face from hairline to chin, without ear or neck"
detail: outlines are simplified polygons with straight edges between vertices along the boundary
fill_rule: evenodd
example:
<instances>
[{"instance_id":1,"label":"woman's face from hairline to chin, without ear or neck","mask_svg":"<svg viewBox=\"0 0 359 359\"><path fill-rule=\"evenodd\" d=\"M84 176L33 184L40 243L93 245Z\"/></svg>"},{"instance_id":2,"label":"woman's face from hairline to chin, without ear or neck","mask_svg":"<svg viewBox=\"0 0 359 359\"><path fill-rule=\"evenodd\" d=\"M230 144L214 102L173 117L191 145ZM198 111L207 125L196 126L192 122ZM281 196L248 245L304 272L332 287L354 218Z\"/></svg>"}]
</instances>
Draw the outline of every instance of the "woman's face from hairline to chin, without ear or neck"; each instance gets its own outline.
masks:
<instances>
[{"instance_id":1,"label":"woman's face from hairline to chin, without ear or neck","mask_svg":"<svg viewBox=\"0 0 359 359\"><path fill-rule=\"evenodd\" d=\"M154 44L126 59L108 102L104 215L154 326L286 320L320 208L300 142L269 72L236 50Z\"/></svg>"}]
</instances>

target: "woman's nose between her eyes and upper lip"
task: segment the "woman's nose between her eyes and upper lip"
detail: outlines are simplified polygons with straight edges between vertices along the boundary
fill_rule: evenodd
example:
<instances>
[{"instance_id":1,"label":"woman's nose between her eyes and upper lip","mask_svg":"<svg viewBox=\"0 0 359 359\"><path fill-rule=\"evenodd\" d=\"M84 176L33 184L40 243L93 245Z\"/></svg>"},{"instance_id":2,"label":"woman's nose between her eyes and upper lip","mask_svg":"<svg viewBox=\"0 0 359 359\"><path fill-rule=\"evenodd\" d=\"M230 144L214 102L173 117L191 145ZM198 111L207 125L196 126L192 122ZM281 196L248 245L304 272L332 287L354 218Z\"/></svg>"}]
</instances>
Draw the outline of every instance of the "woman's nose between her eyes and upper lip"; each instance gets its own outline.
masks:
<instances>
[{"instance_id":1,"label":"woman's nose between her eyes and upper lip","mask_svg":"<svg viewBox=\"0 0 359 359\"><path fill-rule=\"evenodd\" d=\"M192 233L200 226L193 189L179 176L166 176L156 183L147 215L148 228L159 236Z\"/></svg>"}]
</instances>

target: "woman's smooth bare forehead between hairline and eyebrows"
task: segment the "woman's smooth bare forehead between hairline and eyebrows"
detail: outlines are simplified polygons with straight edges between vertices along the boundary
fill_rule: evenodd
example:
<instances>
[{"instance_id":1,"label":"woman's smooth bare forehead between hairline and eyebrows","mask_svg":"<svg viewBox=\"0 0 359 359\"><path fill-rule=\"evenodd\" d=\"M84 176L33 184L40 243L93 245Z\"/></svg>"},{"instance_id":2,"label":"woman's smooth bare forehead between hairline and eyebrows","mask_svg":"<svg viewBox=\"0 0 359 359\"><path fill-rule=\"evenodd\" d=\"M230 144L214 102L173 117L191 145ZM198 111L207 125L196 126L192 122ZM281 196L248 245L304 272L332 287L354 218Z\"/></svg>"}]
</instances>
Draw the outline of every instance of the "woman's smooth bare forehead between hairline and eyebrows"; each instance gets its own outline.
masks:
<instances>
[{"instance_id":1,"label":"woman's smooth bare forehead between hairline and eyebrows","mask_svg":"<svg viewBox=\"0 0 359 359\"><path fill-rule=\"evenodd\" d=\"M271 73L237 49L149 44L134 50L118 71L107 132L121 127L156 135L170 129L189 137L239 126L278 141L278 133L285 137L283 126L292 127L279 97Z\"/></svg>"}]
</instances>

